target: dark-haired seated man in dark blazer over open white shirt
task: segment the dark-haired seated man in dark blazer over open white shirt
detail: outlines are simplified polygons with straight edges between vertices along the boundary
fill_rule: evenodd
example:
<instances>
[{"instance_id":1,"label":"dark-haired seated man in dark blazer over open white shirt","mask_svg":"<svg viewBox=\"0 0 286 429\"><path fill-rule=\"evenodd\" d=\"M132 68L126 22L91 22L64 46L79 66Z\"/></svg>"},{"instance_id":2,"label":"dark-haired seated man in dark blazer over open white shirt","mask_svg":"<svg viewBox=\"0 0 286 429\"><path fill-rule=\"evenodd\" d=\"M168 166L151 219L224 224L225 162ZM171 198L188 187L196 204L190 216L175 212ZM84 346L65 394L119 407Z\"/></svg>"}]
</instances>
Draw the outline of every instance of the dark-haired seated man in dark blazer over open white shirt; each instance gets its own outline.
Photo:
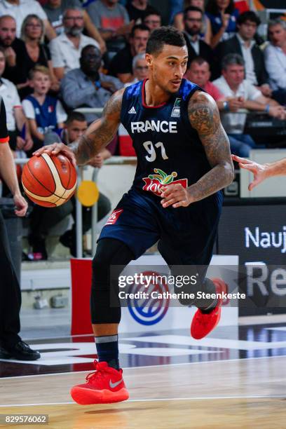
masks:
<instances>
[{"instance_id":1,"label":"dark-haired seated man in dark blazer over open white shirt","mask_svg":"<svg viewBox=\"0 0 286 429\"><path fill-rule=\"evenodd\" d=\"M264 65L264 55L254 40L260 19L252 11L244 12L237 19L237 33L231 39L219 43L217 47L219 63L229 53L238 53L245 60L245 79L258 86L266 97L271 96L268 74Z\"/></svg>"}]
</instances>

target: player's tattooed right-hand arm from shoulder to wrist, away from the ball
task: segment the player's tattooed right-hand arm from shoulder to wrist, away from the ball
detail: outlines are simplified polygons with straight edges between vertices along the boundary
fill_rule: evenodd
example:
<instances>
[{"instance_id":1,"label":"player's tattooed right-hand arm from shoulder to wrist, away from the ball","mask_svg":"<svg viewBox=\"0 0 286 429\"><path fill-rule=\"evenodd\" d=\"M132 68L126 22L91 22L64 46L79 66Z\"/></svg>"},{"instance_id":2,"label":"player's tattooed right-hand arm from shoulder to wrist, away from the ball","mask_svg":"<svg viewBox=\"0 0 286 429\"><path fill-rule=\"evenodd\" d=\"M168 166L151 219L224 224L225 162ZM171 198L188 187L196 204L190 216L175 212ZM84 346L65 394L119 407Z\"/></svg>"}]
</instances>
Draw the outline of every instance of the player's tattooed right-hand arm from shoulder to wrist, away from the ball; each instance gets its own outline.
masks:
<instances>
[{"instance_id":1,"label":"player's tattooed right-hand arm from shoulder to wrist, away from the ball","mask_svg":"<svg viewBox=\"0 0 286 429\"><path fill-rule=\"evenodd\" d=\"M233 181L233 163L229 139L222 127L219 111L212 98L195 93L189 102L189 120L198 132L212 170L189 187L194 201L202 200Z\"/></svg>"}]
</instances>

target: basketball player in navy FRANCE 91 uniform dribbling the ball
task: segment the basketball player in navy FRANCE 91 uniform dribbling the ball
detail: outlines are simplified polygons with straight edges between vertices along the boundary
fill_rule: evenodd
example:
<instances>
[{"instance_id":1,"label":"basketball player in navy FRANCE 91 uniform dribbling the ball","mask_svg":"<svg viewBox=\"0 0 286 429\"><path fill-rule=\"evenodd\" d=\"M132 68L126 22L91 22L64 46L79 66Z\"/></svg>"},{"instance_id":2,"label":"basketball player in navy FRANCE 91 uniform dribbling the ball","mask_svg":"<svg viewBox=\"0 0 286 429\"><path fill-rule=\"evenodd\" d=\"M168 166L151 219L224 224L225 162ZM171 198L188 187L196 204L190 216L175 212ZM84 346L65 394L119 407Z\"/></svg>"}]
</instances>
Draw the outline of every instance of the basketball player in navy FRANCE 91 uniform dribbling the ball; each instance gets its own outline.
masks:
<instances>
[{"instance_id":1,"label":"basketball player in navy FRANCE 91 uniform dribbling the ball","mask_svg":"<svg viewBox=\"0 0 286 429\"><path fill-rule=\"evenodd\" d=\"M71 389L79 404L128 399L118 363L121 308L109 304L111 266L126 266L158 241L168 265L207 266L222 207L219 191L233 180L229 140L212 98L183 79L188 50L172 27L152 32L147 43L149 79L115 93L73 146L62 152L85 164L114 137L123 123L137 153L135 179L102 229L93 260L91 313L99 362L87 382ZM118 287L118 285L117 285ZM211 280L201 289L215 292ZM219 321L217 299L195 300L191 334L200 339Z\"/></svg>"}]
</instances>

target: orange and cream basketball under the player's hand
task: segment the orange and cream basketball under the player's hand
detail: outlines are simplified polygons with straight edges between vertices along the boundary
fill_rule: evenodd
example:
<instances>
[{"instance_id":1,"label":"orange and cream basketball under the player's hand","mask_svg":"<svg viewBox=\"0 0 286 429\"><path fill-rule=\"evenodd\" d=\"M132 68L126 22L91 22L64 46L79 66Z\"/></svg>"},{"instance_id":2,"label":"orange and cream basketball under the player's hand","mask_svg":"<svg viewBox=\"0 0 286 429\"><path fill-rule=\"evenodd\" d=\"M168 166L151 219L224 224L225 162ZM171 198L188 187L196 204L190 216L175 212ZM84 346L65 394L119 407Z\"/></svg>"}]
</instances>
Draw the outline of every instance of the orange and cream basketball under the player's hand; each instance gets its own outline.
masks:
<instances>
[{"instance_id":1,"label":"orange and cream basketball under the player's hand","mask_svg":"<svg viewBox=\"0 0 286 429\"><path fill-rule=\"evenodd\" d=\"M23 168L22 185L34 203L56 207L74 195L76 169L62 154L33 156Z\"/></svg>"}]
</instances>

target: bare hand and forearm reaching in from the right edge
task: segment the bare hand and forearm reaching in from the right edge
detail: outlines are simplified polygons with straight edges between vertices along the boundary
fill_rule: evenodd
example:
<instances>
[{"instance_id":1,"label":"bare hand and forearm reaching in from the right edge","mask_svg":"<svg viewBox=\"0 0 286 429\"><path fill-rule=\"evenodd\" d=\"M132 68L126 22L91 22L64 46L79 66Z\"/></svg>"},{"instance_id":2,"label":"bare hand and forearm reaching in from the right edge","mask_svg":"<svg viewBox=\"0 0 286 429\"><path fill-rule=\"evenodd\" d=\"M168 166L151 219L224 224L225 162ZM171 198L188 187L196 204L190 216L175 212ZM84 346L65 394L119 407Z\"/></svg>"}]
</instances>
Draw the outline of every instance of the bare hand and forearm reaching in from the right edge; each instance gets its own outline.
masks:
<instances>
[{"instance_id":1,"label":"bare hand and forearm reaching in from the right edge","mask_svg":"<svg viewBox=\"0 0 286 429\"><path fill-rule=\"evenodd\" d=\"M241 168L249 170L254 175L254 180L248 186L248 189L252 189L259 183L263 182L268 177L273 176L285 176L286 175L286 158L275 163L258 164L250 159L240 158L240 156L231 155L233 161L239 163Z\"/></svg>"}]
</instances>

